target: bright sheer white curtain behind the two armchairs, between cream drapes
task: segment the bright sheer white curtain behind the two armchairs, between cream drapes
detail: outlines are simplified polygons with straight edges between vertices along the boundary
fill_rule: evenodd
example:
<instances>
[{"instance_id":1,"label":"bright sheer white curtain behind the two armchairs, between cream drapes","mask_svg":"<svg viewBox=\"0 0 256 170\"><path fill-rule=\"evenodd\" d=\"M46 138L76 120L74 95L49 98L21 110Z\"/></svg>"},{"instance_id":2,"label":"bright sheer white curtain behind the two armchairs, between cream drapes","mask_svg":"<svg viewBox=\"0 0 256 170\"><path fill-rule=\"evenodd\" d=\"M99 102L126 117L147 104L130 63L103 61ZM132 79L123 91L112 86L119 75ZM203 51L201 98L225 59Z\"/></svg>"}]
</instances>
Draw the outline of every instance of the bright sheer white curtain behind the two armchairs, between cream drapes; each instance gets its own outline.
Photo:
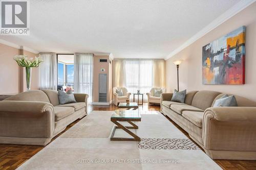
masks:
<instances>
[{"instance_id":1,"label":"bright sheer white curtain behind the two armchairs, between cream drapes","mask_svg":"<svg viewBox=\"0 0 256 170\"><path fill-rule=\"evenodd\" d=\"M146 93L153 87L153 60L124 60L124 84L129 92ZM131 95L133 100L133 95ZM144 101L147 96L144 95Z\"/></svg>"}]
</instances>

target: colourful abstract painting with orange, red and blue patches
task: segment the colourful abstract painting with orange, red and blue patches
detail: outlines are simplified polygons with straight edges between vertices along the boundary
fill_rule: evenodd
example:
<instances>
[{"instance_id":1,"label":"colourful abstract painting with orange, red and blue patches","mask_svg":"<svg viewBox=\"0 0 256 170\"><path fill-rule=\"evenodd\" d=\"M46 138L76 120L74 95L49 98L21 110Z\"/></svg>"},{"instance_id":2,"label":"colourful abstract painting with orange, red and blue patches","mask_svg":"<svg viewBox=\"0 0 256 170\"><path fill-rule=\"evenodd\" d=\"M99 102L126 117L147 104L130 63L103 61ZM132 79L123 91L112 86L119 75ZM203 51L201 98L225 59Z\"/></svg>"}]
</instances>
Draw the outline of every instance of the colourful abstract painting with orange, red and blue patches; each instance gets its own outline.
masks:
<instances>
[{"instance_id":1,"label":"colourful abstract painting with orange, red and blue patches","mask_svg":"<svg viewBox=\"0 0 256 170\"><path fill-rule=\"evenodd\" d=\"M203 84L245 83L245 26L203 46Z\"/></svg>"}]
</instances>

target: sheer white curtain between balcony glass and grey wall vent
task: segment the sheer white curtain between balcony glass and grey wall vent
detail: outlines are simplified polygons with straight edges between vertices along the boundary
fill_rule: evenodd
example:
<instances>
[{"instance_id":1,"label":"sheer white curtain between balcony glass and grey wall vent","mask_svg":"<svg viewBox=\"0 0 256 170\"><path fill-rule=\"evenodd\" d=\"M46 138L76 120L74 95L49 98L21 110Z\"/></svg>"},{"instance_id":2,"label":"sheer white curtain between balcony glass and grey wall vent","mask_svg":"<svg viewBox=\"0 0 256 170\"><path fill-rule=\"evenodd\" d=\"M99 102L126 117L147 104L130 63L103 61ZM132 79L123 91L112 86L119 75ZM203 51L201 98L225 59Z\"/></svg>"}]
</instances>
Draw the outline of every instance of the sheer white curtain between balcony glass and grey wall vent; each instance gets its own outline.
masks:
<instances>
[{"instance_id":1,"label":"sheer white curtain between balcony glass and grey wall vent","mask_svg":"<svg viewBox=\"0 0 256 170\"><path fill-rule=\"evenodd\" d=\"M93 54L74 54L74 91L89 95L88 104L93 99Z\"/></svg>"}]
</instances>

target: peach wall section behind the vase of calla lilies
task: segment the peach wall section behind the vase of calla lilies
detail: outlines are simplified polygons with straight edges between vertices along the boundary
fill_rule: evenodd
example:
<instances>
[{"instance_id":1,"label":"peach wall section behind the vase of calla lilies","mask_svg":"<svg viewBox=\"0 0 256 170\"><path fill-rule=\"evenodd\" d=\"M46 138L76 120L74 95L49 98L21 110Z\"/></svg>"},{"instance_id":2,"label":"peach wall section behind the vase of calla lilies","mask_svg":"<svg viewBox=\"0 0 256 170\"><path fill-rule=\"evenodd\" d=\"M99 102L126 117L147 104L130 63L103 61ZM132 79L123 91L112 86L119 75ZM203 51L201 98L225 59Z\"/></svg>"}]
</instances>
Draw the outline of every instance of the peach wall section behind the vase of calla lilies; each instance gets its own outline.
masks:
<instances>
[{"instance_id":1,"label":"peach wall section behind the vase of calla lilies","mask_svg":"<svg viewBox=\"0 0 256 170\"><path fill-rule=\"evenodd\" d=\"M0 94L26 91L25 69L13 60L16 55L35 57L37 54L0 43ZM31 89L39 89L39 69L32 68Z\"/></svg>"}]
</instances>

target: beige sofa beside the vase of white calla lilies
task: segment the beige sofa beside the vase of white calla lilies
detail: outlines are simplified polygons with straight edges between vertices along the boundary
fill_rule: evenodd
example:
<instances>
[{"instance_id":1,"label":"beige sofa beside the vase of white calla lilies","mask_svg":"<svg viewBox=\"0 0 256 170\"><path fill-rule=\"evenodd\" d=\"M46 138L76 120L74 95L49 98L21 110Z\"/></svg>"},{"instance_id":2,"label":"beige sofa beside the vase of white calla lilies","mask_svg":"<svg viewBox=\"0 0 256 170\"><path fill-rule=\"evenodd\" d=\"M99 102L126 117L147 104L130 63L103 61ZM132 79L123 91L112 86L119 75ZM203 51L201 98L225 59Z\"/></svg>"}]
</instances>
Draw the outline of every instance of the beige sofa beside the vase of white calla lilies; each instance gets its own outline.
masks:
<instances>
[{"instance_id":1,"label":"beige sofa beside the vase of white calla lilies","mask_svg":"<svg viewBox=\"0 0 256 170\"><path fill-rule=\"evenodd\" d=\"M88 94L74 94L77 103L59 105L55 90L31 90L0 102L0 143L46 145L87 114Z\"/></svg>"}]
</instances>

